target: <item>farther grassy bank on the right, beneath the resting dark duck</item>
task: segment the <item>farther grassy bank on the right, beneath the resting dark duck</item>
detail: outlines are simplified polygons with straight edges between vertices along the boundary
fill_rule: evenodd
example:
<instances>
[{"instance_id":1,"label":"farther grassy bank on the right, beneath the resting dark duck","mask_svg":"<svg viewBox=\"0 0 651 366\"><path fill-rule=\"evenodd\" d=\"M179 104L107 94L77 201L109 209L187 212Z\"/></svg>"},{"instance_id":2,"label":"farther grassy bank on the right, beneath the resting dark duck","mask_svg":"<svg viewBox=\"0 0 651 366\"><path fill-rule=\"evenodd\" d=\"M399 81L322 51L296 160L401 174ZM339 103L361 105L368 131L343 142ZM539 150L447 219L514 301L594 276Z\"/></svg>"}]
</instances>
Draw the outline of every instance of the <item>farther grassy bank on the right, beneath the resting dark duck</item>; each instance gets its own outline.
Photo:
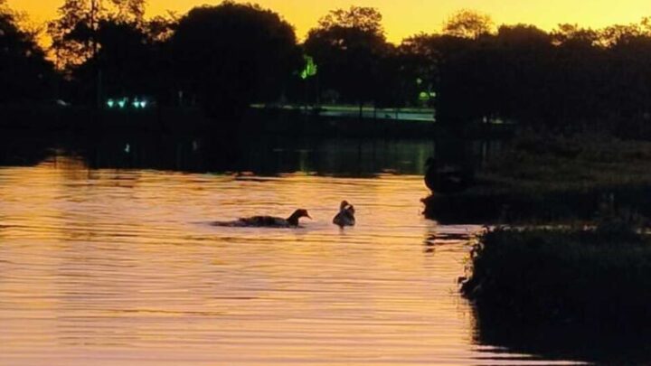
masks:
<instances>
[{"instance_id":1,"label":"farther grassy bank on the right, beneath the resting dark duck","mask_svg":"<svg viewBox=\"0 0 651 366\"><path fill-rule=\"evenodd\" d=\"M458 194L432 194L425 214L442 222L593 221L651 217L651 143L609 136L521 135Z\"/></svg>"}]
</instances>

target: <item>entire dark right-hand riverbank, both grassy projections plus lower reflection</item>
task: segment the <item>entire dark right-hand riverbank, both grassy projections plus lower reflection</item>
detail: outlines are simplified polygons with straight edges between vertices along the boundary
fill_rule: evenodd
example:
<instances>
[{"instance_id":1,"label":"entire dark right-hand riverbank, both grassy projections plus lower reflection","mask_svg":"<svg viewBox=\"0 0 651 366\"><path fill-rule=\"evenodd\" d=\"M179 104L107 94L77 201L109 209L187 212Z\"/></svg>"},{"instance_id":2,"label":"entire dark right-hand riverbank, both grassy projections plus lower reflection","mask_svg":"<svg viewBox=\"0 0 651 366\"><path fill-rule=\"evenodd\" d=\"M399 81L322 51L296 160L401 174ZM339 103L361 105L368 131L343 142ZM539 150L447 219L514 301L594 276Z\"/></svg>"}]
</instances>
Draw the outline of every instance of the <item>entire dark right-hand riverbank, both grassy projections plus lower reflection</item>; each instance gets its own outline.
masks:
<instances>
[{"instance_id":1,"label":"entire dark right-hand riverbank, both grassy projections plus lower reflection","mask_svg":"<svg viewBox=\"0 0 651 366\"><path fill-rule=\"evenodd\" d=\"M465 191L423 200L440 223L533 228L489 231L473 250L462 293L477 343L647 362L651 143L520 131L483 163Z\"/></svg>"}]
</instances>

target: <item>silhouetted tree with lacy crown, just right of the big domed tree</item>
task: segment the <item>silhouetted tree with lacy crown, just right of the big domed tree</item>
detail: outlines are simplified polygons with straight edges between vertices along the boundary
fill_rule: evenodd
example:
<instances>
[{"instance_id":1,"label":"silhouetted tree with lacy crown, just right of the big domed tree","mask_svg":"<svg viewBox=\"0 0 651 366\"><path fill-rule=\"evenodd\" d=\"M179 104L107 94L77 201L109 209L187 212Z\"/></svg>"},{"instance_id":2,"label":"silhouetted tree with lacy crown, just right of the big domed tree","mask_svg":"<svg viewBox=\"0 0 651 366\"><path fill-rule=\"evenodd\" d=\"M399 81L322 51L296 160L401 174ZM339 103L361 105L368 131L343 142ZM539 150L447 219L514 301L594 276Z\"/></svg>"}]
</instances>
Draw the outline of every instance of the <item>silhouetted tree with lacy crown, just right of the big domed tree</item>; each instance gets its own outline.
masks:
<instances>
[{"instance_id":1,"label":"silhouetted tree with lacy crown, just right of the big domed tree","mask_svg":"<svg viewBox=\"0 0 651 366\"><path fill-rule=\"evenodd\" d=\"M319 65L322 89L335 89L342 101L358 103L377 97L380 62L388 51L376 9L351 6L325 15L309 31L305 49Z\"/></svg>"}]
</instances>

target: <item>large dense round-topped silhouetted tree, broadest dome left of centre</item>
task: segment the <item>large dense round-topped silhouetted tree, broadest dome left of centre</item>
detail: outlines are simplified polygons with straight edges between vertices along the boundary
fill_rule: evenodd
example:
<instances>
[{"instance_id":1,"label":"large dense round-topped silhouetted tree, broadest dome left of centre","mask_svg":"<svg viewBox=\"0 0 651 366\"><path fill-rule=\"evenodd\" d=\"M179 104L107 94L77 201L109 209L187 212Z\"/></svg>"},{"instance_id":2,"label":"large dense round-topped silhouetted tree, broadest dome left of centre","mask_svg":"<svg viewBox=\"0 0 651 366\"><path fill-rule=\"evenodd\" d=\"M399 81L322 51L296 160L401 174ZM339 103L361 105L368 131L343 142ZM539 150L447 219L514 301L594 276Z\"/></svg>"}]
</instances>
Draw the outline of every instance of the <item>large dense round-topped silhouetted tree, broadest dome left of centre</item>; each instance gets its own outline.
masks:
<instances>
[{"instance_id":1,"label":"large dense round-topped silhouetted tree, broadest dome left of centre","mask_svg":"<svg viewBox=\"0 0 651 366\"><path fill-rule=\"evenodd\" d=\"M239 116L250 102L278 99L302 63L292 26L258 5L193 8L169 43L177 88L212 116Z\"/></svg>"}]
</instances>

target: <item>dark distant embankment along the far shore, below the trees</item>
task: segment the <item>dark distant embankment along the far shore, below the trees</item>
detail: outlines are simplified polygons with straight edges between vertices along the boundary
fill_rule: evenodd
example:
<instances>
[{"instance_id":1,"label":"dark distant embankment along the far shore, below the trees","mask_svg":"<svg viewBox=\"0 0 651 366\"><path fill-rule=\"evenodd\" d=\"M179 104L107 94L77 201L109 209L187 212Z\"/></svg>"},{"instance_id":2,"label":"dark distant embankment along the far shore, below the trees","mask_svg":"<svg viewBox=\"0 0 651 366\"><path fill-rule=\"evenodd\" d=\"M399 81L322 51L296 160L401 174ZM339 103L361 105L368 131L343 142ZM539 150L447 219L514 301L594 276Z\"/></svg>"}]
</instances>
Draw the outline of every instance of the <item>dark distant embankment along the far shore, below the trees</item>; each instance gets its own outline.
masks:
<instances>
[{"instance_id":1,"label":"dark distant embankment along the far shore, below the trees","mask_svg":"<svg viewBox=\"0 0 651 366\"><path fill-rule=\"evenodd\" d=\"M162 132L277 134L289 136L417 137L433 136L441 127L432 120L405 120L364 115L316 116L296 109L250 108L244 116L206 117L195 108L93 110L59 106L2 106L0 128L71 132ZM468 128L468 135L500 134L506 127Z\"/></svg>"}]
</instances>

